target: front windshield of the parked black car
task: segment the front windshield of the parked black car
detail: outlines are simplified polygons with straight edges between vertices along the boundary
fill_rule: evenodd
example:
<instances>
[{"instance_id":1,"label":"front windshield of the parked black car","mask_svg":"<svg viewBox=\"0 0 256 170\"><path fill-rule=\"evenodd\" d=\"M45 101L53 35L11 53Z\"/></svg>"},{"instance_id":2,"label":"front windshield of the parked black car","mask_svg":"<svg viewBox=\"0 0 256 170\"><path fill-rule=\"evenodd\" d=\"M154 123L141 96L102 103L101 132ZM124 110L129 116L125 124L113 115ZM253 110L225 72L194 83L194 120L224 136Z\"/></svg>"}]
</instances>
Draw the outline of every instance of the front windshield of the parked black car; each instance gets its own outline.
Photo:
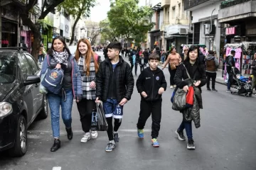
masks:
<instances>
[{"instance_id":1,"label":"front windshield of the parked black car","mask_svg":"<svg viewBox=\"0 0 256 170\"><path fill-rule=\"evenodd\" d=\"M0 83L12 83L16 79L16 66L12 52L0 52Z\"/></svg>"}]
</instances>

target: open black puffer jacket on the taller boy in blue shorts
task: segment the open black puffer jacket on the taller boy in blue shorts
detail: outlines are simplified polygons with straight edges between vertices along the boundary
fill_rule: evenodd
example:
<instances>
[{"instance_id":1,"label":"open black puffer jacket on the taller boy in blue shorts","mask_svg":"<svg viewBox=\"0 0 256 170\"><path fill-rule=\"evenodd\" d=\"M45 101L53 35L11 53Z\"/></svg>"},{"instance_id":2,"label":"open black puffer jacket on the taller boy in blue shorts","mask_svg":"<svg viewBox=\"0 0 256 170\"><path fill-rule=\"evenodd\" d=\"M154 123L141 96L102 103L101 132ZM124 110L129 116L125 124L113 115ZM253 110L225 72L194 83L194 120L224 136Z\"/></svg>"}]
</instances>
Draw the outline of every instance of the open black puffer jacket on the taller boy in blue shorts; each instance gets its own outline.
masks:
<instances>
[{"instance_id":1,"label":"open black puffer jacket on the taller boy in blue shorts","mask_svg":"<svg viewBox=\"0 0 256 170\"><path fill-rule=\"evenodd\" d=\"M123 98L131 99L134 89L134 78L132 76L131 67L119 56L119 62L115 68L117 72L116 91L117 101L122 101ZM100 69L96 76L96 97L102 101L107 101L107 94L110 90L110 80L112 79L113 69L110 60L107 58L100 63Z\"/></svg>"}]
</instances>

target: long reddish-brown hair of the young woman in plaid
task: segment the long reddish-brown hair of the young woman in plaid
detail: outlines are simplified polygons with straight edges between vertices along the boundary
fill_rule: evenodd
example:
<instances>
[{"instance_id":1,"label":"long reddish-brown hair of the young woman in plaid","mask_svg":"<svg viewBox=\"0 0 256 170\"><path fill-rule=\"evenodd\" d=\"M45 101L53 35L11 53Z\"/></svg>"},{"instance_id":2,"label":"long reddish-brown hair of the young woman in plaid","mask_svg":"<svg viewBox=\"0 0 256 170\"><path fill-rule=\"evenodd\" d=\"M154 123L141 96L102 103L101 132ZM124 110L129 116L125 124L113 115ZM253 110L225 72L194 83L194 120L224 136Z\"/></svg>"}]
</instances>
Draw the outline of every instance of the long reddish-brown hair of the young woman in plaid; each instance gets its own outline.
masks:
<instances>
[{"instance_id":1,"label":"long reddish-brown hair of the young woman in plaid","mask_svg":"<svg viewBox=\"0 0 256 170\"><path fill-rule=\"evenodd\" d=\"M75 60L78 62L79 57L81 55L81 52L78 50L79 44L80 42L84 42L87 45L87 52L85 55L85 60L84 60L84 72L86 72L86 76L90 75L90 62L91 62L91 57L93 57L94 63L95 63L95 72L97 73L98 69L99 69L99 64L96 60L95 57L95 52L92 51L92 46L90 45L89 40L87 40L86 38L82 38L78 41L78 46L77 46L77 50L75 51ZM86 69L86 70L85 70Z\"/></svg>"}]
</instances>

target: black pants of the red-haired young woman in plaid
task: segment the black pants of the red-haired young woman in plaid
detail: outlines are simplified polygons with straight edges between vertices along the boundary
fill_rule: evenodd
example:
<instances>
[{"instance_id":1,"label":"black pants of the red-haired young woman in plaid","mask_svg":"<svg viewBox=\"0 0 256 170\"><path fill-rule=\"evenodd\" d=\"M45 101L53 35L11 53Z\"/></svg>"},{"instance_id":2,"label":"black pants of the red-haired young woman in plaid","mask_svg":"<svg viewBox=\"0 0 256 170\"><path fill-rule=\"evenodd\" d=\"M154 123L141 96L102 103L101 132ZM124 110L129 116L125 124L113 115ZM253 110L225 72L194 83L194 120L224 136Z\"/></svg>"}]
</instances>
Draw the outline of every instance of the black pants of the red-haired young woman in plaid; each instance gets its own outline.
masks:
<instances>
[{"instance_id":1,"label":"black pants of the red-haired young woman in plaid","mask_svg":"<svg viewBox=\"0 0 256 170\"><path fill-rule=\"evenodd\" d=\"M82 123L82 130L84 132L89 132L92 125L92 110L96 109L95 100L87 100L83 98L77 105L80 121Z\"/></svg>"}]
</instances>

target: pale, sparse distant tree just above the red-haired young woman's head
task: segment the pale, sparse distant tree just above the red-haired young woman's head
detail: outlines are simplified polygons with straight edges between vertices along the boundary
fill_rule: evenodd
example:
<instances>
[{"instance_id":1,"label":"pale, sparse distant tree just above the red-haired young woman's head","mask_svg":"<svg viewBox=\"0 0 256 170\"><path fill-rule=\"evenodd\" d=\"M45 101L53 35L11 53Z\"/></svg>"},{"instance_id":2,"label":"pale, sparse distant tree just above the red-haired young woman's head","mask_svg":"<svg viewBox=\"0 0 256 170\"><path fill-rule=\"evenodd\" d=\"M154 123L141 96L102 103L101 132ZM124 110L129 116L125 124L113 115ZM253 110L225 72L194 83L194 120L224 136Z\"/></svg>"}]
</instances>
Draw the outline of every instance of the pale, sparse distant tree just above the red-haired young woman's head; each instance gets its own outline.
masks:
<instances>
[{"instance_id":1,"label":"pale, sparse distant tree just above the red-haired young woman's head","mask_svg":"<svg viewBox=\"0 0 256 170\"><path fill-rule=\"evenodd\" d=\"M100 35L100 23L86 21L85 27L87 28L88 38L90 38L91 45L95 45L97 37Z\"/></svg>"}]
</instances>

